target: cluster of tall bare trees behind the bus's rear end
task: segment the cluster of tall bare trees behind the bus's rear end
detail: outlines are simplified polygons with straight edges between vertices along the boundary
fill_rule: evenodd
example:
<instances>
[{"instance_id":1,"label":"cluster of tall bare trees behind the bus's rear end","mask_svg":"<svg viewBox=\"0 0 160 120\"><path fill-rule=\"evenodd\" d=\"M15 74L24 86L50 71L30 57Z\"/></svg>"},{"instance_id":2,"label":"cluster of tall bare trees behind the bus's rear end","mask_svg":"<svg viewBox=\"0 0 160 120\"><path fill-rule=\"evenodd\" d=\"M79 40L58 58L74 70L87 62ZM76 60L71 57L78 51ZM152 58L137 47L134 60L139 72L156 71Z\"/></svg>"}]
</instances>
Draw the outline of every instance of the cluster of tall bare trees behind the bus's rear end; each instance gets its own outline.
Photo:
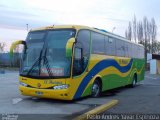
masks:
<instances>
[{"instance_id":1,"label":"cluster of tall bare trees behind the bus's rear end","mask_svg":"<svg viewBox=\"0 0 160 120\"><path fill-rule=\"evenodd\" d=\"M157 41L157 25L155 19L148 20L146 16L143 20L137 21L136 16L129 22L128 28L125 31L125 36L128 40L132 40L142 44L145 49L145 59L147 53L159 53L160 42Z\"/></svg>"}]
</instances>

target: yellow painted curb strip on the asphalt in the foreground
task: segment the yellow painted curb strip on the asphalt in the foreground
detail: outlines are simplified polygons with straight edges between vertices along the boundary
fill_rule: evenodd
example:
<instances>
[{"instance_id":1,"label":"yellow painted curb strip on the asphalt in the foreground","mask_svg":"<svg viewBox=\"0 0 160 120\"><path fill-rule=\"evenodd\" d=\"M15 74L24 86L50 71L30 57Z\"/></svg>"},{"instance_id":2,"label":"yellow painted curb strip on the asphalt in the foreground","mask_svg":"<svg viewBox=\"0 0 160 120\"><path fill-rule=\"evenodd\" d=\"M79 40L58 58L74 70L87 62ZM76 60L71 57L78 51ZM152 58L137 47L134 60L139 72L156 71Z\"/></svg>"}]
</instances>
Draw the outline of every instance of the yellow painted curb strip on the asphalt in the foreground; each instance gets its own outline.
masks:
<instances>
[{"instance_id":1,"label":"yellow painted curb strip on the asphalt in the foreground","mask_svg":"<svg viewBox=\"0 0 160 120\"><path fill-rule=\"evenodd\" d=\"M102 113L108 109L110 109L111 107L113 107L114 105L116 105L118 103L118 100L112 100L106 104L103 104L101 106L96 107L93 110L90 110L76 118L74 118L73 120L87 120L87 116L88 115L95 115L95 114L99 114Z\"/></svg>"}]
</instances>

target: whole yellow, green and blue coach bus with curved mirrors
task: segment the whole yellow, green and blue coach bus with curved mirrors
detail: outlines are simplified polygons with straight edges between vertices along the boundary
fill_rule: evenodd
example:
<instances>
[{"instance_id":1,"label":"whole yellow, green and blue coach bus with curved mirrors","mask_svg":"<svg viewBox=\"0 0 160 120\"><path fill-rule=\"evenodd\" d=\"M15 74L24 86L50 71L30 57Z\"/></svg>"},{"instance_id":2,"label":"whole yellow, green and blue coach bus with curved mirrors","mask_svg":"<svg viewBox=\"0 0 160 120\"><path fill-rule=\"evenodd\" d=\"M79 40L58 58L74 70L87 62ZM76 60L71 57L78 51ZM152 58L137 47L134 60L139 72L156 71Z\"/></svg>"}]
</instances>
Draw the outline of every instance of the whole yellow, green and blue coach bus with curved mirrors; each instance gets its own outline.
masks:
<instances>
[{"instance_id":1,"label":"whole yellow, green and blue coach bus with curved mirrors","mask_svg":"<svg viewBox=\"0 0 160 120\"><path fill-rule=\"evenodd\" d=\"M22 95L60 100L98 97L144 79L144 47L102 29L54 25L29 31L19 75Z\"/></svg>"}]
</instances>

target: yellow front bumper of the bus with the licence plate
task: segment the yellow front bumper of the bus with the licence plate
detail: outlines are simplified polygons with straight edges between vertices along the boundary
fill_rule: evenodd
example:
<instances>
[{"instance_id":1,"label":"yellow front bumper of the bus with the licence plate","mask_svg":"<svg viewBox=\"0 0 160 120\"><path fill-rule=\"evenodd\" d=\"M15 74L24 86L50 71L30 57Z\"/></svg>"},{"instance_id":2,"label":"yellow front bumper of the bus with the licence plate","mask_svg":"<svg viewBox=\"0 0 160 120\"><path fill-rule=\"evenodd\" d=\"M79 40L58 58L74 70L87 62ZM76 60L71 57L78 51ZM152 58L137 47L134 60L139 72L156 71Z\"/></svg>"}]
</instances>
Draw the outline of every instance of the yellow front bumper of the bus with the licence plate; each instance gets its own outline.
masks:
<instances>
[{"instance_id":1,"label":"yellow front bumper of the bus with the licence plate","mask_svg":"<svg viewBox=\"0 0 160 120\"><path fill-rule=\"evenodd\" d=\"M67 89L62 90L52 90L52 89L37 89L19 86L19 90L22 95L34 96L39 98L51 98L59 100L72 100Z\"/></svg>"}]
</instances>

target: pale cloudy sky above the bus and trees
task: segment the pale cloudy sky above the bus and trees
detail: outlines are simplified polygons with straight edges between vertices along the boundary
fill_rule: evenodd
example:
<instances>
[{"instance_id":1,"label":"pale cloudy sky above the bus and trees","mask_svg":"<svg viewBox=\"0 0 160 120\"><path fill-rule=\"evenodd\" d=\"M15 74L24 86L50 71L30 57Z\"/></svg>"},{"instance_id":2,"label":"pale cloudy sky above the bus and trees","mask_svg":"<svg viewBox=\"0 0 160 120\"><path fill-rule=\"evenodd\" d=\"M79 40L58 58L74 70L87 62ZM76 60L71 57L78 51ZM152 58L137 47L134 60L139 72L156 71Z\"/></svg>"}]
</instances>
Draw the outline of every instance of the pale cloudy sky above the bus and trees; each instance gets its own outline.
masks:
<instances>
[{"instance_id":1,"label":"pale cloudy sky above the bus and trees","mask_svg":"<svg viewBox=\"0 0 160 120\"><path fill-rule=\"evenodd\" d=\"M24 40L28 28L77 24L105 29L124 36L128 22L155 18L160 28L160 0L0 0L0 42L6 51ZM157 39L160 40L158 29Z\"/></svg>"}]
</instances>

